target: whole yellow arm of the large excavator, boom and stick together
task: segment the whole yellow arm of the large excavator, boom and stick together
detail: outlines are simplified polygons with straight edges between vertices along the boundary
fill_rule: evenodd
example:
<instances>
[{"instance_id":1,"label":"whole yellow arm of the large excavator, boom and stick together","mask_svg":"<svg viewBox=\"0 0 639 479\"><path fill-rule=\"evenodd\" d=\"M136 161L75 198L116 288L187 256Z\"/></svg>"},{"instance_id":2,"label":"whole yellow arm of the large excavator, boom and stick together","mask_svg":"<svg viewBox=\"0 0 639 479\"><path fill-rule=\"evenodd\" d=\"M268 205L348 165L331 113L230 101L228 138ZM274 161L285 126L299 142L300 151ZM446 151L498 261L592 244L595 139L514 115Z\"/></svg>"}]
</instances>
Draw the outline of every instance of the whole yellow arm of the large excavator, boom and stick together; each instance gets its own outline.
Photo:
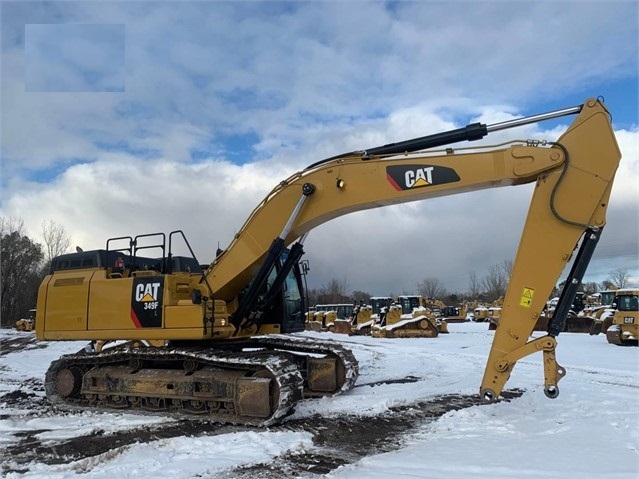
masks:
<instances>
[{"instance_id":1,"label":"whole yellow arm of the large excavator, boom and stick together","mask_svg":"<svg viewBox=\"0 0 639 479\"><path fill-rule=\"evenodd\" d=\"M555 142L517 142L485 152L448 148L443 155L432 150L406 151L478 139L490 131L569 114L578 117ZM554 336L560 331L556 325L562 321L562 314L555 315L554 329L551 324L547 338L532 343L528 343L528 338L584 234L584 245L589 245L584 254L587 259L592 255L593 239L599 237L605 225L621 153L609 113L595 99L554 114L506 123L489 127L471 125L448 136L433 135L341 155L296 173L266 197L229 250L212 264L208 278L214 294L230 297L239 285L245 284L267 251L267 245L260 239L276 237L280 229L286 232L283 242L289 244L319 224L353 211L536 182L501 313L503 326L495 334L481 392L487 401L494 400L517 359L539 350L549 357L545 362L550 364L545 371L546 394L557 394L557 382L564 371L554 361ZM288 205L306 196L310 198L291 225ZM282 226L285 222L287 228ZM579 255L581 260L584 254ZM581 261L581 270L573 276L583 277L587 263ZM563 304L572 303L576 289L570 291L574 288L571 284L579 284L581 277L568 284ZM565 321L565 315L563 318Z\"/></svg>"}]
</instances>

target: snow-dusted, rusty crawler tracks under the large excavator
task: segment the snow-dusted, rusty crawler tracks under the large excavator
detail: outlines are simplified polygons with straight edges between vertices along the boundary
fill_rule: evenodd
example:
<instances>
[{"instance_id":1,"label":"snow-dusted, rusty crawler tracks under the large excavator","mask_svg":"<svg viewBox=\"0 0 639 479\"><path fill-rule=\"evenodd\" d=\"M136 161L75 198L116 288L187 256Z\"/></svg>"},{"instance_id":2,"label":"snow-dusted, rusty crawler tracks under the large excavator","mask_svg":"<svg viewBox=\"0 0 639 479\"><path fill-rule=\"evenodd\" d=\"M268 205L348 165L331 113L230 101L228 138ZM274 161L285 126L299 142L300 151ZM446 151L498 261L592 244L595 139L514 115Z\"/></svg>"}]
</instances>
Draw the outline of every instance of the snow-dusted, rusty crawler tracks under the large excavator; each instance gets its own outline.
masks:
<instances>
[{"instance_id":1,"label":"snow-dusted, rusty crawler tracks under the large excavator","mask_svg":"<svg viewBox=\"0 0 639 479\"><path fill-rule=\"evenodd\" d=\"M352 388L358 365L332 341L262 336L210 347L142 348L65 355L45 376L56 405L133 409L215 422L268 426L304 397Z\"/></svg>"}]
</instances>

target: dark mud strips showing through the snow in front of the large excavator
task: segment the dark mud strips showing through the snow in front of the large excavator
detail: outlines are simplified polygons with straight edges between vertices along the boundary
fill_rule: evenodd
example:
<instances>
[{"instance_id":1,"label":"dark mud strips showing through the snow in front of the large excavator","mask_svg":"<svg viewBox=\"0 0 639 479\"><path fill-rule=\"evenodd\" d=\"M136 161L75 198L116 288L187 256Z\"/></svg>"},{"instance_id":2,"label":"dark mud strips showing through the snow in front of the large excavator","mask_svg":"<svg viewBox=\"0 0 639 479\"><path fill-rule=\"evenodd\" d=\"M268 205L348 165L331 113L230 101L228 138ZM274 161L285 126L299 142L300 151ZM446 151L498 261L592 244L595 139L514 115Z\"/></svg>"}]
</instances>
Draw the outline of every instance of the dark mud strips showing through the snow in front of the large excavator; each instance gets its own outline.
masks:
<instances>
[{"instance_id":1,"label":"dark mud strips showing through the snow in front of the large excavator","mask_svg":"<svg viewBox=\"0 0 639 479\"><path fill-rule=\"evenodd\" d=\"M411 381L411 378L402 381ZM44 387L33 380L29 389L43 391ZM36 392L23 389L0 396L0 403L25 410L25 416L69 415L57 411ZM521 396L523 391L504 393L504 400ZM321 417L289 419L272 426L271 431L305 431L313 434L314 449L287 453L264 464L238 467L219 475L220 479L320 477L345 464L361 458L399 449L408 434L416 431L427 421L443 414L482 404L478 395L441 396L432 401L411 406L397 407L378 416ZM249 427L217 424L200 419L184 419L166 424L144 426L129 430L106 433L95 431L89 435L43 444L37 435L44 431L18 432L17 443L2 450L4 457L11 458L11 466L2 466L2 474L26 473L29 463L65 464L91 458L125 448L135 443L156 441L180 436L202 437L249 430Z\"/></svg>"}]
</instances>

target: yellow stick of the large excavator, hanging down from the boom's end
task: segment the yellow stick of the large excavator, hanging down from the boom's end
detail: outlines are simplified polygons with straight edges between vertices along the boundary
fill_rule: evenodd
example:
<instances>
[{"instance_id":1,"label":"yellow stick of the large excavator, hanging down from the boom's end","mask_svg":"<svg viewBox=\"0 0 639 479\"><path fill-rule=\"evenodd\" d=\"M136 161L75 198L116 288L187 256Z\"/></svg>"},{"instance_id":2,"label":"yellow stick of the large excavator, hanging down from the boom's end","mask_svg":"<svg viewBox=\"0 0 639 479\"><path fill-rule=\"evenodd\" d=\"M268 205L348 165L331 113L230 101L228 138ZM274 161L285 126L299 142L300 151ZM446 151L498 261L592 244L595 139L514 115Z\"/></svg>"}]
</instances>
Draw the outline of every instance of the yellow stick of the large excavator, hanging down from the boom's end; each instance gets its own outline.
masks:
<instances>
[{"instance_id":1,"label":"yellow stick of the large excavator, hanging down from the boom's end","mask_svg":"<svg viewBox=\"0 0 639 479\"><path fill-rule=\"evenodd\" d=\"M552 149L561 166L536 182L480 389L488 402L499 397L516 361L537 350L529 346L539 340L529 342L529 336L575 245L584 233L605 224L621 153L603 105L587 101ZM540 259L545 260L542 267ZM554 343L560 329L560 323L551 326L547 338ZM553 343L542 349L553 351ZM544 391L556 397L557 381L563 377L557 372L563 368L554 354L546 359Z\"/></svg>"}]
</instances>

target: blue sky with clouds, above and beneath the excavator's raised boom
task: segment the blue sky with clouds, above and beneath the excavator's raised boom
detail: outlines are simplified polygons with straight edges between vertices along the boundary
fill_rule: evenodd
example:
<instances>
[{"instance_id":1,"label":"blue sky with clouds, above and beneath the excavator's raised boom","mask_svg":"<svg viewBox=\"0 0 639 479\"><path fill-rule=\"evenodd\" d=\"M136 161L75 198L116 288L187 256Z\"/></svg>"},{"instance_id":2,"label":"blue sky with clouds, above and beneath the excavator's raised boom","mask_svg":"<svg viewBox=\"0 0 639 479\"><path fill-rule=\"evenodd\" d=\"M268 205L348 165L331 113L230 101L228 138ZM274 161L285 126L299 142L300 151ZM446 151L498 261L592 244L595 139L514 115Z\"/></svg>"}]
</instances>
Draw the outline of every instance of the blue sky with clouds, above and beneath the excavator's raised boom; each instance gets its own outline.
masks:
<instances>
[{"instance_id":1,"label":"blue sky with clouds, above and beneath the excavator's raised boom","mask_svg":"<svg viewBox=\"0 0 639 479\"><path fill-rule=\"evenodd\" d=\"M4 1L0 12L0 215L36 240L49 221L85 250L183 230L208 263L275 185L319 160L602 96L623 158L584 280L627 268L639 285L635 1ZM515 138L553 140L570 121ZM531 195L337 218L305 241L308 285L411 294L437 277L465 292L471 273L513 259Z\"/></svg>"}]
</instances>

